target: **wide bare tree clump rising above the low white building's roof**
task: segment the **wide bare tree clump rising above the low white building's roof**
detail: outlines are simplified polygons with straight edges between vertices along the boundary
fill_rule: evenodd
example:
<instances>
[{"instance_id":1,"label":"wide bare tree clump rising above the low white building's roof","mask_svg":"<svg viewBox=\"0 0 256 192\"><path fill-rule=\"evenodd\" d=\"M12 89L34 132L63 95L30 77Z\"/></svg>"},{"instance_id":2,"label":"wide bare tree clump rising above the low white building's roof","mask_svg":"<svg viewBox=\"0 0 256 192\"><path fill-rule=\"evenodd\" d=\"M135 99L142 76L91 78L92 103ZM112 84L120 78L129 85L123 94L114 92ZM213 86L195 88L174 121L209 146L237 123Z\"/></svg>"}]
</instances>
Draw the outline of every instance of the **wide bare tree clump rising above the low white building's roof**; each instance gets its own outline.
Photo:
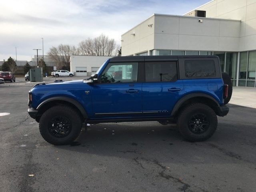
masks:
<instances>
[{"instance_id":1,"label":"wide bare tree clump rising above the low white building's roof","mask_svg":"<svg viewBox=\"0 0 256 192\"><path fill-rule=\"evenodd\" d=\"M116 41L101 34L93 39L88 38L79 43L79 51L82 55L113 56L116 55Z\"/></svg>"}]
</instances>

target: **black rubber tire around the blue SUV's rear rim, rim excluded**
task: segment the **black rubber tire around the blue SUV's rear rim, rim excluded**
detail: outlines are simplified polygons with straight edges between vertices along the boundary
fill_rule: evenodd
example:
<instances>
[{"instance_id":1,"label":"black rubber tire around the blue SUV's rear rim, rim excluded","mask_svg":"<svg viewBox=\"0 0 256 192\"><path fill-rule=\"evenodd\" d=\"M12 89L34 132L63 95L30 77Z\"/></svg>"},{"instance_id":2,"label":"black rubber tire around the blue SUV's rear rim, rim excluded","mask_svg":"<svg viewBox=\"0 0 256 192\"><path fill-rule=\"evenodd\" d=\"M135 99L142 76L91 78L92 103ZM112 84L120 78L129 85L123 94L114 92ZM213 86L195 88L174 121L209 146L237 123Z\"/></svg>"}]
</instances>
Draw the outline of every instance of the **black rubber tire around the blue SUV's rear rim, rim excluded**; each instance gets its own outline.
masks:
<instances>
[{"instance_id":1,"label":"black rubber tire around the blue SUV's rear rim, rim excluded","mask_svg":"<svg viewBox=\"0 0 256 192\"><path fill-rule=\"evenodd\" d=\"M208 129L200 134L193 133L190 130L189 122L191 116L197 113L204 114L209 121ZM180 133L189 141L204 141L210 138L214 132L216 131L218 125L218 119L217 116L206 104L202 103L193 103L186 106L179 114L178 120L177 120L177 126L180 131Z\"/></svg>"}]
</instances>

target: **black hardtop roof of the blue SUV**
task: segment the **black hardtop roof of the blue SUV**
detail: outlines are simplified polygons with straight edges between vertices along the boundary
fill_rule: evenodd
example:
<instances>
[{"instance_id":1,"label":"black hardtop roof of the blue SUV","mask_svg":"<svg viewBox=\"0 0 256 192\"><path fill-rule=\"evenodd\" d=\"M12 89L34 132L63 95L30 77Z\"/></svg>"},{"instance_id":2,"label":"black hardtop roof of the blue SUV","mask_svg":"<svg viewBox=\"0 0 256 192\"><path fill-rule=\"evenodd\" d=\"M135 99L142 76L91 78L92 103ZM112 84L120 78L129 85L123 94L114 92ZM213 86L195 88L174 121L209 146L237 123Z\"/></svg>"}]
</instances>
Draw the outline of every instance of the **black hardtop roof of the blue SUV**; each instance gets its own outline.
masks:
<instances>
[{"instance_id":1,"label":"black hardtop roof of the blue SUV","mask_svg":"<svg viewBox=\"0 0 256 192\"><path fill-rule=\"evenodd\" d=\"M164 56L117 56L110 58L110 62L131 62L131 61L172 61L178 58L218 58L215 55L164 55Z\"/></svg>"}]
</instances>

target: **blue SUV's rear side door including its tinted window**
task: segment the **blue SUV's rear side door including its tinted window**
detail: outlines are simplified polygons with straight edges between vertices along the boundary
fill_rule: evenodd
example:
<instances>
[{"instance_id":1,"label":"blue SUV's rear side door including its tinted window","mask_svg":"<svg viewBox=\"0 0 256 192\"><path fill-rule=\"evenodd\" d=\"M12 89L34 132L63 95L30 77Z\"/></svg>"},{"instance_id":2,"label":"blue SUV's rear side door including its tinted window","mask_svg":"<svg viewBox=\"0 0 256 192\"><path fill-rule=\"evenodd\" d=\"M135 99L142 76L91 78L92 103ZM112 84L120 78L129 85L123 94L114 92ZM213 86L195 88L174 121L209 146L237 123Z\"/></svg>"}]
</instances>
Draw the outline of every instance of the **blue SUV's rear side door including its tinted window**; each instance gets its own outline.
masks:
<instances>
[{"instance_id":1,"label":"blue SUV's rear side door including its tinted window","mask_svg":"<svg viewBox=\"0 0 256 192\"><path fill-rule=\"evenodd\" d=\"M183 80L178 78L177 67L177 61L145 62L144 115L170 116L172 108L184 95Z\"/></svg>"}]
</instances>

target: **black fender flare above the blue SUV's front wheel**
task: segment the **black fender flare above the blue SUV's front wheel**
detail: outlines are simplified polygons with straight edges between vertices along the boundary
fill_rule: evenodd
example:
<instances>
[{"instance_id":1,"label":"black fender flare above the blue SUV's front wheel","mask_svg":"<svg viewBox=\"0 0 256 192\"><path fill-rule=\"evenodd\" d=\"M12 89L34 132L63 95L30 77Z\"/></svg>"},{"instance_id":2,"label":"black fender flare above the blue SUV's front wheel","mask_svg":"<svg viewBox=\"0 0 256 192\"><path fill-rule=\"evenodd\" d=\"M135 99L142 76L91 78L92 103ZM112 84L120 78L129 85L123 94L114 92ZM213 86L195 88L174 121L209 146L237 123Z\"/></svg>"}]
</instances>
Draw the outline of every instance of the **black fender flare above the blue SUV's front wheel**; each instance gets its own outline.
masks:
<instances>
[{"instance_id":1,"label":"black fender flare above the blue SUV's front wheel","mask_svg":"<svg viewBox=\"0 0 256 192\"><path fill-rule=\"evenodd\" d=\"M51 102L51 101L66 101L69 102L71 104L73 104L74 106L76 106L76 108L78 108L78 110L81 112L82 116L84 118L88 118L88 115L86 113L86 111L84 110L83 106L76 100L69 98L69 97L65 97L65 96L55 96L55 97L51 97L48 98L46 100L44 100L43 102L41 102L38 107L36 108L36 110L40 110L40 108L42 108L42 106L44 106L44 104Z\"/></svg>"}]
</instances>

